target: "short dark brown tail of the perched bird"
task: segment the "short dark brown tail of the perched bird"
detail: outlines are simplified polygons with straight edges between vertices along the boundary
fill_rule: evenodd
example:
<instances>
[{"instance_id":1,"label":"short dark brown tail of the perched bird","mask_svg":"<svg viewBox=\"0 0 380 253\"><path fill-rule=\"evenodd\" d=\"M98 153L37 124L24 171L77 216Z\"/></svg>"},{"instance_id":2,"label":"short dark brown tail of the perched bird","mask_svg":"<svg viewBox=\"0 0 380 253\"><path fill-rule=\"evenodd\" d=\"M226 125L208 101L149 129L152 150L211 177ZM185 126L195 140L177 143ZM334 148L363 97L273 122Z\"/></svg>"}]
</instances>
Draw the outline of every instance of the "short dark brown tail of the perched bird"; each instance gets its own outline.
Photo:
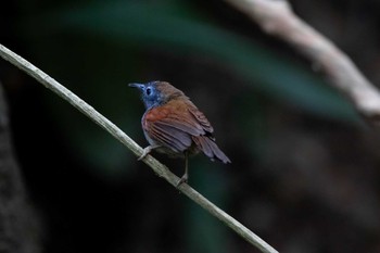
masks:
<instances>
[{"instance_id":1,"label":"short dark brown tail of the perched bird","mask_svg":"<svg viewBox=\"0 0 380 253\"><path fill-rule=\"evenodd\" d=\"M227 155L217 147L214 140L206 136L194 136L193 141L202 152L207 155L211 160L219 160L223 163L231 163Z\"/></svg>"}]
</instances>

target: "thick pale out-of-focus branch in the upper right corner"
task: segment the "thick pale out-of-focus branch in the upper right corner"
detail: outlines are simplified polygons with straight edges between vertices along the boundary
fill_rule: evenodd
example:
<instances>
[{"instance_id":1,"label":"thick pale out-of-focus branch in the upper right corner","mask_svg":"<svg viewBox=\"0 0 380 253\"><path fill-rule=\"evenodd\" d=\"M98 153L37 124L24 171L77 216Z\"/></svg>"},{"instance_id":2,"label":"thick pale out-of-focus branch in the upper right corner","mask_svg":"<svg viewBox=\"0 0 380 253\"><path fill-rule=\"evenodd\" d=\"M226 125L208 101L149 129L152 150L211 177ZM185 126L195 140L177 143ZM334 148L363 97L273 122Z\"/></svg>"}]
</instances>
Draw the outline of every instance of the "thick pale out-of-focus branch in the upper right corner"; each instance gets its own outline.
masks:
<instances>
[{"instance_id":1,"label":"thick pale out-of-focus branch in the upper right corner","mask_svg":"<svg viewBox=\"0 0 380 253\"><path fill-rule=\"evenodd\" d=\"M295 48L345 94L371 124L380 125L380 93L357 69L350 58L312 28L284 0L225 0L249 15L266 33Z\"/></svg>"}]
</instances>

